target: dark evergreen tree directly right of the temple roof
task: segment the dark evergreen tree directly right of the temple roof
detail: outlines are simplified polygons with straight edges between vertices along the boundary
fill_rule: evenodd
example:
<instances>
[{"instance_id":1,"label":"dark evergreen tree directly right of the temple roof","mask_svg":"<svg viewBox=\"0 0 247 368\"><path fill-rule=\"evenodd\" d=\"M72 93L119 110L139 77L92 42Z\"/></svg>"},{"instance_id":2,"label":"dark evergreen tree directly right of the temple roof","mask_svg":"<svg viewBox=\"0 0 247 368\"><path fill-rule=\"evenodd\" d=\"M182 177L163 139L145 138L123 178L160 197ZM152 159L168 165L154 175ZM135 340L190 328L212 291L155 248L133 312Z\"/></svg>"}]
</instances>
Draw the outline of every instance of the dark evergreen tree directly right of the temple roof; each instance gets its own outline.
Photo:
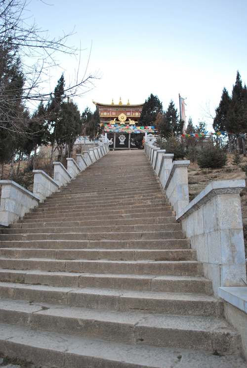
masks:
<instances>
[{"instance_id":1,"label":"dark evergreen tree directly right of the temple roof","mask_svg":"<svg viewBox=\"0 0 247 368\"><path fill-rule=\"evenodd\" d=\"M159 100L158 96L154 96L151 93L148 99L145 100L138 125L155 125L155 121L159 113L163 113L162 102Z\"/></svg>"}]
</instances>

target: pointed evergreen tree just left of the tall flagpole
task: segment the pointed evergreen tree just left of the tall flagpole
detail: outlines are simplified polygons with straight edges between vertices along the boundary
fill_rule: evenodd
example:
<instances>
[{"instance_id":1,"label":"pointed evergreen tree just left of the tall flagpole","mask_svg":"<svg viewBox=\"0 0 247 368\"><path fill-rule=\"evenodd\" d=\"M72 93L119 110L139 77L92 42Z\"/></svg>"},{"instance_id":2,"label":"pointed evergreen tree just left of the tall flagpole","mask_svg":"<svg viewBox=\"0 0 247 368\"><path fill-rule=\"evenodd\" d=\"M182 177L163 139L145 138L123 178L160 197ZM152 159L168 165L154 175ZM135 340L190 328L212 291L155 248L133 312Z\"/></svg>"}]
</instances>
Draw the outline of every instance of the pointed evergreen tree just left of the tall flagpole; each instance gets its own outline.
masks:
<instances>
[{"instance_id":1,"label":"pointed evergreen tree just left of the tall flagpole","mask_svg":"<svg viewBox=\"0 0 247 368\"><path fill-rule=\"evenodd\" d=\"M182 133L183 126L184 122L179 120L177 109L171 100L158 126L160 134L164 138L174 136L175 134Z\"/></svg>"}]
</instances>

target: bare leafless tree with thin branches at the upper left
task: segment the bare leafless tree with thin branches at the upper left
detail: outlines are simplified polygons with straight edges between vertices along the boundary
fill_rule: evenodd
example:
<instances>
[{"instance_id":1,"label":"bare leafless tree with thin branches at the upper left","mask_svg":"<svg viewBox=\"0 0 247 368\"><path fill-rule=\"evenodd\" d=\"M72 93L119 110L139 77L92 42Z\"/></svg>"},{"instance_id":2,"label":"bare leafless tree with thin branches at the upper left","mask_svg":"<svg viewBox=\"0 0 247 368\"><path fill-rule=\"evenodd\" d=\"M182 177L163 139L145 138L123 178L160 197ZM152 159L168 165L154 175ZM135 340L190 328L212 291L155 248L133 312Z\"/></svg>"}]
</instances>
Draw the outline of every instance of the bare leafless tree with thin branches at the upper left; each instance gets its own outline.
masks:
<instances>
[{"instance_id":1,"label":"bare leafless tree with thin branches at the upper left","mask_svg":"<svg viewBox=\"0 0 247 368\"><path fill-rule=\"evenodd\" d=\"M50 99L50 91L43 93L43 86L48 82L48 70L59 65L59 53L78 58L78 71L73 82L65 89L68 97L86 93L98 78L97 75L87 74L88 60L83 76L79 77L82 50L68 44L74 31L51 39L35 22L30 24L30 18L26 15L27 7L26 0L0 0L0 104L7 100L4 114L0 110L0 128L8 130L9 134L16 131L27 133L20 111L25 109L28 101L36 103ZM9 69L4 68L3 56L7 64L12 63L12 69L18 64L24 81L20 92L17 91L20 86L11 83L10 88L6 83Z\"/></svg>"}]
</instances>

